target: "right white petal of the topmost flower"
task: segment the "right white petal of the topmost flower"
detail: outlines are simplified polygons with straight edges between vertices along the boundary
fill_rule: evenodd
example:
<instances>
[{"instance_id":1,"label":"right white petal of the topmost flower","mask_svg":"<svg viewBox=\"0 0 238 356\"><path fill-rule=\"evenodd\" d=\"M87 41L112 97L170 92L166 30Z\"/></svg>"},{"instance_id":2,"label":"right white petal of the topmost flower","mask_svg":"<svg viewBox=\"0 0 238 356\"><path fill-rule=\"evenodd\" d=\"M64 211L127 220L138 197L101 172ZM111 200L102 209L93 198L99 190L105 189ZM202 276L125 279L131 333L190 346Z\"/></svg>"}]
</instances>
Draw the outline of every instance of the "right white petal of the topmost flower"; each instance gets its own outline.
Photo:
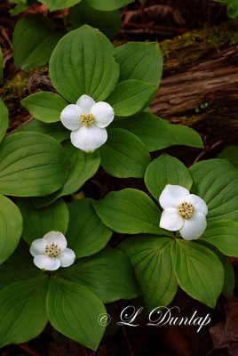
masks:
<instances>
[{"instance_id":1,"label":"right white petal of the topmost flower","mask_svg":"<svg viewBox=\"0 0 238 356\"><path fill-rule=\"evenodd\" d=\"M91 108L91 114L94 116L95 125L103 128L109 125L114 119L114 109L105 101L99 101Z\"/></svg>"}]
</instances>

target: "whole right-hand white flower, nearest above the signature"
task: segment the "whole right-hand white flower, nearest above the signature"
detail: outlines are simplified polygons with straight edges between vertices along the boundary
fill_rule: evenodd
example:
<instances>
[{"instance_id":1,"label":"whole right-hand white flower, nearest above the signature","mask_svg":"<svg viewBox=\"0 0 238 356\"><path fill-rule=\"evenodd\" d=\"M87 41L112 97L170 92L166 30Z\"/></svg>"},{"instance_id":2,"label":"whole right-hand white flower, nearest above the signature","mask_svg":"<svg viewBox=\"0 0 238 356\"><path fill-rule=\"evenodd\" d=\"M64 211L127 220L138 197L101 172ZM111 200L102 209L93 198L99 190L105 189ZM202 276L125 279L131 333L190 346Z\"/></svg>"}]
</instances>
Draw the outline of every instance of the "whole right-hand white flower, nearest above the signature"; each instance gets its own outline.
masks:
<instances>
[{"instance_id":1,"label":"whole right-hand white flower, nearest above the signature","mask_svg":"<svg viewBox=\"0 0 238 356\"><path fill-rule=\"evenodd\" d=\"M206 229L208 206L197 195L179 185L168 184L159 198L163 207L160 227L180 232L184 239L198 239Z\"/></svg>"}]
</instances>

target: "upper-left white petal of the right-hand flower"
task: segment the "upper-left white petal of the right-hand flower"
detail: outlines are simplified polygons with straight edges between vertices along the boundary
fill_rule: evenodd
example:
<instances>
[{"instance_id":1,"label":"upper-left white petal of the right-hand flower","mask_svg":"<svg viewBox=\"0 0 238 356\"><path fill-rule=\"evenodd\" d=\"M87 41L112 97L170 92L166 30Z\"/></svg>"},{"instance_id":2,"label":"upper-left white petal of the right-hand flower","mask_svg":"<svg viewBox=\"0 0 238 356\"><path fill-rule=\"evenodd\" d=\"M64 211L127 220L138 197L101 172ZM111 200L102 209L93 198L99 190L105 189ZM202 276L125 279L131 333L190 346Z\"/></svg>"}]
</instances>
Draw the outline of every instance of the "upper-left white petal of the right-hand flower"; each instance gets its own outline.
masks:
<instances>
[{"instance_id":1,"label":"upper-left white petal of the right-hand flower","mask_svg":"<svg viewBox=\"0 0 238 356\"><path fill-rule=\"evenodd\" d=\"M189 191L180 185L167 184L160 195L159 203L165 209L166 207L178 207L189 195Z\"/></svg>"}]
</instances>

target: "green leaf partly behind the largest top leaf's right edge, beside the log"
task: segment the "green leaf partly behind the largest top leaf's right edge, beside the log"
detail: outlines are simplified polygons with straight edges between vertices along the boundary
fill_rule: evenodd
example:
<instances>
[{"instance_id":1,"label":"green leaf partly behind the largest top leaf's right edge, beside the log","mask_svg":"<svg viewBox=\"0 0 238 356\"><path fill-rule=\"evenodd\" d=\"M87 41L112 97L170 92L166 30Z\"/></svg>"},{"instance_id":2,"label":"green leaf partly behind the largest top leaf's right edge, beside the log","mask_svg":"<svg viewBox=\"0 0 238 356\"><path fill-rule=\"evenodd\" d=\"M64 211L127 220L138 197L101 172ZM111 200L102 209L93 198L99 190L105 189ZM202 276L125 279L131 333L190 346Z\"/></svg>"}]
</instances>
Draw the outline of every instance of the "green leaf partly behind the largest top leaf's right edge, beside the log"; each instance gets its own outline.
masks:
<instances>
[{"instance_id":1,"label":"green leaf partly behind the largest top leaf's right edge, beside the log","mask_svg":"<svg viewBox=\"0 0 238 356\"><path fill-rule=\"evenodd\" d=\"M157 42L130 42L115 48L120 64L120 81L138 79L159 85L163 73L163 55Z\"/></svg>"}]
</instances>

